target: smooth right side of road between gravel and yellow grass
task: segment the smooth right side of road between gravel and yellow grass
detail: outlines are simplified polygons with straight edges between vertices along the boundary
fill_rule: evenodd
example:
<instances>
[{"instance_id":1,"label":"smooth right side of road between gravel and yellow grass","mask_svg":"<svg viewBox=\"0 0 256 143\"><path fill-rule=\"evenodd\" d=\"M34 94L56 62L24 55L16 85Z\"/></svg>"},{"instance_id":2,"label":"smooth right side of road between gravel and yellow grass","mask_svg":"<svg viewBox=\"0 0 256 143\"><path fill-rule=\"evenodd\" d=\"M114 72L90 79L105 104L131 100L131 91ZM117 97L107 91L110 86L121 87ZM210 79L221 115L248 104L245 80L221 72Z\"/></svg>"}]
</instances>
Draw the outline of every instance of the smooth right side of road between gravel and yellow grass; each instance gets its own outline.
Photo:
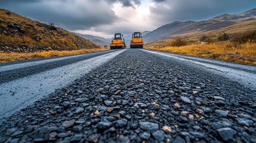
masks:
<instances>
[{"instance_id":1,"label":"smooth right side of road between gravel and yellow grass","mask_svg":"<svg viewBox=\"0 0 256 143\"><path fill-rule=\"evenodd\" d=\"M167 58L175 58L179 61L184 61L190 66L197 67L198 69L205 69L212 71L215 74L221 74L224 77L229 77L230 80L239 82L246 88L251 88L256 91L256 66L248 66L245 64L236 64L226 61L211 60L207 58L192 57L188 55L171 54L159 51L147 52L164 56Z\"/></svg>"}]
</instances>

